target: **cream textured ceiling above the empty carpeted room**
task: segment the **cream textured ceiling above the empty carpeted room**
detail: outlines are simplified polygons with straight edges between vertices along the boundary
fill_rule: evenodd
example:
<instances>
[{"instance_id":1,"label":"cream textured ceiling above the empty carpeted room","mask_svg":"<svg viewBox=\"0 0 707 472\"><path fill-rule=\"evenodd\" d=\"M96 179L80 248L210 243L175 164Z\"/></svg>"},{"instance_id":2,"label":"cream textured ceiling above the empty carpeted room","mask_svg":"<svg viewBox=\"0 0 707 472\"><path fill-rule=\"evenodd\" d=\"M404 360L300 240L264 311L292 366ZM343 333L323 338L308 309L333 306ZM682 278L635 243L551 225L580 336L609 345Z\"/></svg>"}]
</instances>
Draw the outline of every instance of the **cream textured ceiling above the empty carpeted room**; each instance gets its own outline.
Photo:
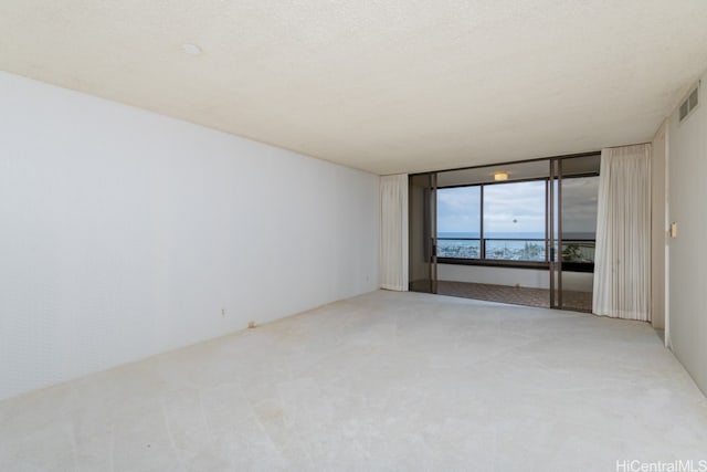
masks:
<instances>
[{"instance_id":1,"label":"cream textured ceiling above the empty carpeted room","mask_svg":"<svg viewBox=\"0 0 707 472\"><path fill-rule=\"evenodd\" d=\"M377 174L645 141L705 67L705 0L0 1L0 70Z\"/></svg>"}]
</instances>

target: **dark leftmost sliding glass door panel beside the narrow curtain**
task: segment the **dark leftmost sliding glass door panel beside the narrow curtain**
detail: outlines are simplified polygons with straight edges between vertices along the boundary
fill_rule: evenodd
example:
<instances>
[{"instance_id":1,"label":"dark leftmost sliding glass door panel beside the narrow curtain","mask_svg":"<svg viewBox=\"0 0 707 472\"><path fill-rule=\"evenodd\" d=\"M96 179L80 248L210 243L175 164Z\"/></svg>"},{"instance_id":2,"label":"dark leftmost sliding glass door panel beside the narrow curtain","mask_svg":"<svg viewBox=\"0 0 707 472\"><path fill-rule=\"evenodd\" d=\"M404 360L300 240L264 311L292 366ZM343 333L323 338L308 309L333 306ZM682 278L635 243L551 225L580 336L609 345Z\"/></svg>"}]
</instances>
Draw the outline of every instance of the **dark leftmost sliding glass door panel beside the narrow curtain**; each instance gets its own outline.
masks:
<instances>
[{"instance_id":1,"label":"dark leftmost sliding glass door panel beside the narrow curtain","mask_svg":"<svg viewBox=\"0 0 707 472\"><path fill-rule=\"evenodd\" d=\"M410 290L437 293L437 175L410 176Z\"/></svg>"}]
</instances>

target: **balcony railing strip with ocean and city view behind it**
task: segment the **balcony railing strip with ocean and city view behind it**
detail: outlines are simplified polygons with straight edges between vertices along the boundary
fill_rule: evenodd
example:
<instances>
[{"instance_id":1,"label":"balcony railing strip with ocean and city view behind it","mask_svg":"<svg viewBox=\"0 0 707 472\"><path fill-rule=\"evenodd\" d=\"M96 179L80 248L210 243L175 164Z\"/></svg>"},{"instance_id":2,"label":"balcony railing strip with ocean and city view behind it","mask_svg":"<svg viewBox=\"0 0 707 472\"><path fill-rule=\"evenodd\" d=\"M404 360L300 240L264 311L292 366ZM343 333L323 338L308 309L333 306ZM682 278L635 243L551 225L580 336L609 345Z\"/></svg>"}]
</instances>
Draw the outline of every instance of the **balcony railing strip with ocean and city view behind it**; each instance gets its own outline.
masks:
<instances>
[{"instance_id":1,"label":"balcony railing strip with ocean and city view behind it","mask_svg":"<svg viewBox=\"0 0 707 472\"><path fill-rule=\"evenodd\" d=\"M557 254L557 241L555 243ZM563 240L562 262L594 262L594 240ZM437 238L437 258L548 262L547 241L534 238Z\"/></svg>"}]
</instances>

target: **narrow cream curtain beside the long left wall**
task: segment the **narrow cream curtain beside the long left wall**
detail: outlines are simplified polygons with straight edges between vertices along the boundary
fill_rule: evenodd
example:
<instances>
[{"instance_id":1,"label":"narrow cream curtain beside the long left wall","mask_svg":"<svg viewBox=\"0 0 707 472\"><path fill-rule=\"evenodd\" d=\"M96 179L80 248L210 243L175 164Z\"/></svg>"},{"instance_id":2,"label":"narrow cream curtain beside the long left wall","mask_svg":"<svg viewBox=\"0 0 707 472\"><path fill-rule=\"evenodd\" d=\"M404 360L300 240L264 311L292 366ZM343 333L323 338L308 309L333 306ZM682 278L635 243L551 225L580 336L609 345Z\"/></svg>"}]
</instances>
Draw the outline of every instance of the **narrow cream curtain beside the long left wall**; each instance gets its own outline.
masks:
<instances>
[{"instance_id":1,"label":"narrow cream curtain beside the long left wall","mask_svg":"<svg viewBox=\"0 0 707 472\"><path fill-rule=\"evenodd\" d=\"M408 291L408 175L380 178L381 289Z\"/></svg>"}]
</instances>

